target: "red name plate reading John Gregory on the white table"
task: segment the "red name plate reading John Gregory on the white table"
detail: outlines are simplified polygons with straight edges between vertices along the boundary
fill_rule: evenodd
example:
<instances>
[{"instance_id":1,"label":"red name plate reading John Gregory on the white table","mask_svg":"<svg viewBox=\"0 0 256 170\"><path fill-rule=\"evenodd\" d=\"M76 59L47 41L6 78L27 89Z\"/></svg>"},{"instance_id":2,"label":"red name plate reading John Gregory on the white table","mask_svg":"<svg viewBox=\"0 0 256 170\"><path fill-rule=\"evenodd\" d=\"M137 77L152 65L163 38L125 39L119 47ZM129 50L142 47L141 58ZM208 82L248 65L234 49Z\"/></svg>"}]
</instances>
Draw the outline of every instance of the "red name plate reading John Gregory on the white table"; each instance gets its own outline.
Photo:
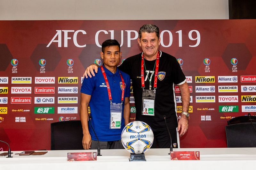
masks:
<instances>
[{"instance_id":1,"label":"red name plate reading John Gregory on the white table","mask_svg":"<svg viewBox=\"0 0 256 170\"><path fill-rule=\"evenodd\" d=\"M171 151L171 160L200 160L199 151Z\"/></svg>"}]
</instances>

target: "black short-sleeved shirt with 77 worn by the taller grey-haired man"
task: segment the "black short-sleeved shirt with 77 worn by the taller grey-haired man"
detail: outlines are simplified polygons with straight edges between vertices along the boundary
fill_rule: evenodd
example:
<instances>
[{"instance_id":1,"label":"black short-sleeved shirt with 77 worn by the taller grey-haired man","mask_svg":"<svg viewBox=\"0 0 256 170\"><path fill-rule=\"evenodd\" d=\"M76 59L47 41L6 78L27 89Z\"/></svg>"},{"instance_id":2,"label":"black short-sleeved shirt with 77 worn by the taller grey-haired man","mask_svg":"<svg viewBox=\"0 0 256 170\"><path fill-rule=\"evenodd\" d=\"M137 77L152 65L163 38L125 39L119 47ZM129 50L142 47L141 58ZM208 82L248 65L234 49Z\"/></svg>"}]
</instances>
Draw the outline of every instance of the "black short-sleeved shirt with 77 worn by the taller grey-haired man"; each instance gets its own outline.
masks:
<instances>
[{"instance_id":1,"label":"black short-sleeved shirt with 77 worn by the taller grey-haired man","mask_svg":"<svg viewBox=\"0 0 256 170\"><path fill-rule=\"evenodd\" d=\"M136 107L136 121L146 122L153 131L166 130L164 123L164 115L170 129L178 126L176 114L176 100L174 93L174 84L180 85L186 82L176 58L164 52L160 52L159 69L157 78L156 100L155 100L155 116L142 115L142 88L141 88L141 55L134 55L127 58L118 67L118 69L129 74L132 79L133 96ZM144 60L144 79L145 89L149 89L149 79L152 77L151 86L154 87L156 60ZM147 70L147 73L146 73Z\"/></svg>"}]
</instances>

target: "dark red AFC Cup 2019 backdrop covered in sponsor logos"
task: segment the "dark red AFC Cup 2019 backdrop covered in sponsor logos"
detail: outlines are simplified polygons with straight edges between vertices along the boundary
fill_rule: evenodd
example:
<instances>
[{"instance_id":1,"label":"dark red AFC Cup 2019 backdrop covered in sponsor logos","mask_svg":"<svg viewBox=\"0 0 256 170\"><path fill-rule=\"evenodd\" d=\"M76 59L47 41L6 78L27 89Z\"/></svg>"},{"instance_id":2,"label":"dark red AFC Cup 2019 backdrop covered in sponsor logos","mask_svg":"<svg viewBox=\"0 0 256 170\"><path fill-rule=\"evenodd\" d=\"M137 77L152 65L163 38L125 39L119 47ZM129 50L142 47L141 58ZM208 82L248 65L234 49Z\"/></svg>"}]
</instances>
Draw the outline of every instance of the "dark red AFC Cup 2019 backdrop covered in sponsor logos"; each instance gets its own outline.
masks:
<instances>
[{"instance_id":1,"label":"dark red AFC Cup 2019 backdrop covered in sponsor logos","mask_svg":"<svg viewBox=\"0 0 256 170\"><path fill-rule=\"evenodd\" d=\"M12 150L49 150L50 123L80 119L82 75L100 58L100 44L116 39L122 59L138 54L147 23L160 28L160 50L187 76L191 116L180 146L227 147L227 120L256 111L256 20L0 21L1 140Z\"/></svg>"}]
</instances>

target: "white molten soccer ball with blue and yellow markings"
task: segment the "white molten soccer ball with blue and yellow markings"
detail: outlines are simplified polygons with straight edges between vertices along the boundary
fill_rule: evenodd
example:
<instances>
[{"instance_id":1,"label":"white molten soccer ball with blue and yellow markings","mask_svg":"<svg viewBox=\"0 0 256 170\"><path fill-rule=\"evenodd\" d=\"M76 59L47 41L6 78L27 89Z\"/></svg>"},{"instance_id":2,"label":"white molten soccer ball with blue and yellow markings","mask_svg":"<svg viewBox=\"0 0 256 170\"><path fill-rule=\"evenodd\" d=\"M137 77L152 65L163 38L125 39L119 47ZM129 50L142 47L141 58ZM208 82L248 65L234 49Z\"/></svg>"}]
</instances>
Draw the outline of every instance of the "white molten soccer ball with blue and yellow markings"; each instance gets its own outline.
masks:
<instances>
[{"instance_id":1,"label":"white molten soccer ball with blue and yellow markings","mask_svg":"<svg viewBox=\"0 0 256 170\"><path fill-rule=\"evenodd\" d=\"M153 144L154 134L150 126L141 121L128 123L121 134L124 148L131 153L144 153Z\"/></svg>"}]
</instances>

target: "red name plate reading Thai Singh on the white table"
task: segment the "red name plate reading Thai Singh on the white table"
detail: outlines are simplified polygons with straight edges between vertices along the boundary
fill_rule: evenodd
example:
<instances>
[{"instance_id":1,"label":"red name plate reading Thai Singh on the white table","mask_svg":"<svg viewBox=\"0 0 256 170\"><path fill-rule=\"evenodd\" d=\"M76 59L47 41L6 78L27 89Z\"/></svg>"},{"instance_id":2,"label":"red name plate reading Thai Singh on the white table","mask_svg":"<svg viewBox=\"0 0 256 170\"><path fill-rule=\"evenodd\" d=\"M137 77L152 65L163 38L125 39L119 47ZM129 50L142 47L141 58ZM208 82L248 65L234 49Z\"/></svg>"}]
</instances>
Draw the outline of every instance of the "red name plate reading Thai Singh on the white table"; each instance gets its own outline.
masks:
<instances>
[{"instance_id":1,"label":"red name plate reading Thai Singh on the white table","mask_svg":"<svg viewBox=\"0 0 256 170\"><path fill-rule=\"evenodd\" d=\"M68 153L68 161L97 160L97 152L74 152Z\"/></svg>"}]
</instances>

